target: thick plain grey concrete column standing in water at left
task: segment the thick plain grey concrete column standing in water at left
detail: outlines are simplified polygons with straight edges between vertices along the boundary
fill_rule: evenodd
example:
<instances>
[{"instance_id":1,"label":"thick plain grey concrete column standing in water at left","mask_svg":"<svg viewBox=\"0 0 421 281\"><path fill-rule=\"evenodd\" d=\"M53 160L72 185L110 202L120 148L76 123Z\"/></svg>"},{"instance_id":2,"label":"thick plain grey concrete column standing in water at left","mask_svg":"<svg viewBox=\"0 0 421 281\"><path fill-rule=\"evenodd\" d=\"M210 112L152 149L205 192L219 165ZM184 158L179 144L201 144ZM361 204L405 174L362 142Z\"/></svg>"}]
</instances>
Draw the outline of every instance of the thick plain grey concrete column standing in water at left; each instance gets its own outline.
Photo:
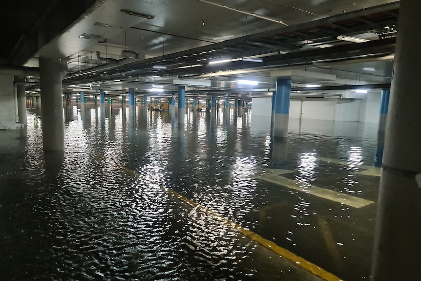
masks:
<instances>
[{"instance_id":1,"label":"thick plain grey concrete column standing in water at left","mask_svg":"<svg viewBox=\"0 0 421 281\"><path fill-rule=\"evenodd\" d=\"M40 58L42 144L44 151L64 149L63 85L60 59Z\"/></svg>"}]
</instances>

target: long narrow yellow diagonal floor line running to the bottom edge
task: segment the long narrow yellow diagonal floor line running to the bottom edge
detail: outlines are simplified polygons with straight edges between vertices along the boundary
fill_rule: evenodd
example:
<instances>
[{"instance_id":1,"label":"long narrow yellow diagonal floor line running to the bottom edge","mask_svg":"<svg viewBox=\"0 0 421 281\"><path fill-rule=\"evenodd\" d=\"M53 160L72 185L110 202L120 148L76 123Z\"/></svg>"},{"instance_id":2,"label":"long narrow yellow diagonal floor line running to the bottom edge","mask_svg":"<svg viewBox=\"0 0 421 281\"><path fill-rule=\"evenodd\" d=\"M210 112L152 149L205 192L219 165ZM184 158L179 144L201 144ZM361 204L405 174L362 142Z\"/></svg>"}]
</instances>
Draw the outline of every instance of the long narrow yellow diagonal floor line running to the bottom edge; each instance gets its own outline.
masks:
<instances>
[{"instance_id":1,"label":"long narrow yellow diagonal floor line running to the bottom edge","mask_svg":"<svg viewBox=\"0 0 421 281\"><path fill-rule=\"evenodd\" d=\"M98 158L101 158L103 160L107 160L107 161L111 161L114 163L114 165L116 165L117 167L123 169L126 173L130 174L130 175L135 175L138 176L140 178L145 179L144 177L142 177L140 174L136 173L135 171L128 169L126 166L115 162L114 160L108 159L107 157L105 157L104 155L96 152L96 151L92 151L95 155L98 156ZM147 179L145 179L147 180ZM158 184L157 182L152 182L150 180L148 180L150 183L152 184ZM316 264L307 261L301 257L298 257L297 255L295 255L294 253L288 251L287 249L284 249L278 245L276 245L274 242L265 239L263 237L261 237L260 235L254 233L253 231L250 231L246 228L243 228L241 225L237 224L236 222L233 222L229 219L227 219L224 216L220 216L217 213L215 213L214 211L201 206L200 204L198 204L197 202L171 190L168 188L165 188L164 186L162 186L161 184L159 184L159 187L161 189L164 189L168 192L169 195L174 196L175 198L189 204L190 206L194 207L194 208L200 208L203 209L205 211L206 214L217 218L218 220L220 220L221 222L223 222L224 224L226 224L228 227L230 227L233 230L238 231L240 234L244 235L245 237L252 239L254 242L258 243L259 245L262 245L263 247L273 251L274 253L278 254L279 256L288 259L292 262L294 262L296 265L302 267L303 269L313 273L314 275L320 277L321 279L325 280L325 281L343 281L342 279L338 278L337 276L335 276L334 274L322 269L321 267L317 266Z\"/></svg>"}]
</instances>

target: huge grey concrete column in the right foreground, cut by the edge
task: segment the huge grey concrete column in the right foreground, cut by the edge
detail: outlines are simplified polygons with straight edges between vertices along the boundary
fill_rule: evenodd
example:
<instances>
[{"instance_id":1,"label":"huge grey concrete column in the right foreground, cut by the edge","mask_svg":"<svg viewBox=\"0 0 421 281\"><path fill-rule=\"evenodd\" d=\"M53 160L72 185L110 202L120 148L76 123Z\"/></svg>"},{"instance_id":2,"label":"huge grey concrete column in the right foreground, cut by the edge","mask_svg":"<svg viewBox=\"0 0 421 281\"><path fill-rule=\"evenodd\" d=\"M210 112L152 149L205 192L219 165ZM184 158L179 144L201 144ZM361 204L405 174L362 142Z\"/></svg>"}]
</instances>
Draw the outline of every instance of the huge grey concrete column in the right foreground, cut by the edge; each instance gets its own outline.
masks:
<instances>
[{"instance_id":1,"label":"huge grey concrete column in the right foreground, cut by the edge","mask_svg":"<svg viewBox=\"0 0 421 281\"><path fill-rule=\"evenodd\" d=\"M421 277L421 29L420 0L401 0L399 33L379 201L372 279L419 280Z\"/></svg>"}]
</instances>

